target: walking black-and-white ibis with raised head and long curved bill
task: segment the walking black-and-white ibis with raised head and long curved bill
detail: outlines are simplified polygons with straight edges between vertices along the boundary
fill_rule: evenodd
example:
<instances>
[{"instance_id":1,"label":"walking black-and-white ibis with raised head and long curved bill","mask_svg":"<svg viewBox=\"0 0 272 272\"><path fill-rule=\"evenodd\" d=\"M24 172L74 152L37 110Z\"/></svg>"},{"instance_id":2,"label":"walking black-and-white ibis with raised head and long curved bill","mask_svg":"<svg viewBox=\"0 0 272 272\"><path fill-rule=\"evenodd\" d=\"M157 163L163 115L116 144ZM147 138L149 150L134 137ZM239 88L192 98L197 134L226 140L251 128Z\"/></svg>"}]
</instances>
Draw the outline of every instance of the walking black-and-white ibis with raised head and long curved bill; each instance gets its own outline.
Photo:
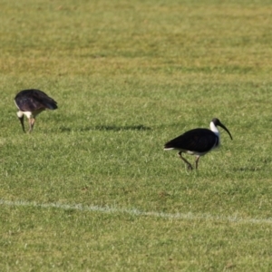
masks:
<instances>
[{"instance_id":1,"label":"walking black-and-white ibis with raised head and long curved bill","mask_svg":"<svg viewBox=\"0 0 272 272\"><path fill-rule=\"evenodd\" d=\"M210 130L208 129L194 129L187 131L180 135L179 137L168 141L164 145L165 151L178 150L180 159L183 160L189 170L192 170L192 166L188 160L182 157L182 153L187 153L189 155L195 155L196 158L196 169L198 169L198 163L200 156L204 156L209 151L219 147L220 135L217 127L223 128L228 132L230 139L232 136L228 129L219 121L218 118L214 118L209 123Z\"/></svg>"}]
</instances>

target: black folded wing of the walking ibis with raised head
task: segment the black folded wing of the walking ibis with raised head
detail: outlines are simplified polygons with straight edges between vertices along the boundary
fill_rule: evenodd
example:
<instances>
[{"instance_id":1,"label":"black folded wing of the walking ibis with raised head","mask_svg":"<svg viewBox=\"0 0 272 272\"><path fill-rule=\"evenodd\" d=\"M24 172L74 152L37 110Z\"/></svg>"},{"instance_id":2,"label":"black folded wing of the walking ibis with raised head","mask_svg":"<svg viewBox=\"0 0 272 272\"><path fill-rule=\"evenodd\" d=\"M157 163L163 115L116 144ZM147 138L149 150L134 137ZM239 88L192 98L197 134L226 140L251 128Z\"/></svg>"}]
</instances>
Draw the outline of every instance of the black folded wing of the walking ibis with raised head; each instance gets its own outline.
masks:
<instances>
[{"instance_id":1,"label":"black folded wing of the walking ibis with raised head","mask_svg":"<svg viewBox=\"0 0 272 272\"><path fill-rule=\"evenodd\" d=\"M187 131L179 137L168 141L165 149L176 149L180 151L207 152L217 143L218 136L208 129L195 129Z\"/></svg>"}]
</instances>

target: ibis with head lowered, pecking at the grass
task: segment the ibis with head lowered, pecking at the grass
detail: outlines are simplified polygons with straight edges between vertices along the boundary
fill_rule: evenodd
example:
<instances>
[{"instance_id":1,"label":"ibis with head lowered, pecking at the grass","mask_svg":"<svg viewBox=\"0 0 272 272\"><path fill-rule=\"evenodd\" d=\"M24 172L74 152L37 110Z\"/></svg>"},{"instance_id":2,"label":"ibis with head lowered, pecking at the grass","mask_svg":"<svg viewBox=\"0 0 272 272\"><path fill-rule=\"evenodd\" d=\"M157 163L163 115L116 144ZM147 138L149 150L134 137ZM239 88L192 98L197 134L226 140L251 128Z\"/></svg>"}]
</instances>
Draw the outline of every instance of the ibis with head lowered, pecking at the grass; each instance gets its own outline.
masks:
<instances>
[{"instance_id":1,"label":"ibis with head lowered, pecking at the grass","mask_svg":"<svg viewBox=\"0 0 272 272\"><path fill-rule=\"evenodd\" d=\"M33 131L35 117L46 109L57 109L57 102L46 93L39 90L24 90L15 96L15 105L18 108L17 116L24 131L24 115L28 118L29 132ZM25 131L24 131L25 132Z\"/></svg>"}]
</instances>

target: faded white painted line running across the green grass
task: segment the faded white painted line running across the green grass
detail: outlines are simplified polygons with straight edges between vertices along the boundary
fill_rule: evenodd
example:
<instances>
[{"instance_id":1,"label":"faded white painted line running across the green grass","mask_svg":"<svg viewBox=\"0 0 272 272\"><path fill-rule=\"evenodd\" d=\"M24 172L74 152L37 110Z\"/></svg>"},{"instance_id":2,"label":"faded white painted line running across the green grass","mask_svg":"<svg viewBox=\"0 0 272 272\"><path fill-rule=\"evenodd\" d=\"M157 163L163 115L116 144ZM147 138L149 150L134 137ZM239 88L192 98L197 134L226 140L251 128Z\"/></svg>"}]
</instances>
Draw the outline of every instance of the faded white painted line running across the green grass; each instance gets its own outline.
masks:
<instances>
[{"instance_id":1,"label":"faded white painted line running across the green grass","mask_svg":"<svg viewBox=\"0 0 272 272\"><path fill-rule=\"evenodd\" d=\"M62 203L38 203L35 201L24 201L24 200L5 200L0 199L0 205L12 206L12 207L33 207L33 208L43 208L43 209L74 209L80 211L92 211L92 212L101 212L101 213L125 213L131 216L142 216L142 217L153 217L161 219L180 219L180 220L206 220L206 221L227 221L235 223L244 223L244 224L272 224L272 219L242 219L236 216L213 216L207 213L204 214L193 214L188 213L165 213L157 211L142 211L140 209L121 209L114 207L101 207L101 206L84 206L82 204L62 204Z\"/></svg>"}]
</instances>

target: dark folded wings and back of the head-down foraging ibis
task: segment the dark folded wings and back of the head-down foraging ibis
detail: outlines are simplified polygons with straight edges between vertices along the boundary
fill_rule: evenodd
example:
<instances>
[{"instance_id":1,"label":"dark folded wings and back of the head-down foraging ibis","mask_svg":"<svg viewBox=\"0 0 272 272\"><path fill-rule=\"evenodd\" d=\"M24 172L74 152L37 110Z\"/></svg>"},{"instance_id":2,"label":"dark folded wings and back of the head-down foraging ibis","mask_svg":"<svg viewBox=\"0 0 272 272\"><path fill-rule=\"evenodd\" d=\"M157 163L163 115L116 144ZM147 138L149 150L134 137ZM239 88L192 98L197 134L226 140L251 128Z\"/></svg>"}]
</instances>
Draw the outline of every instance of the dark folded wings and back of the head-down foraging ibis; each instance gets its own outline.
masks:
<instances>
[{"instance_id":1,"label":"dark folded wings and back of the head-down foraging ibis","mask_svg":"<svg viewBox=\"0 0 272 272\"><path fill-rule=\"evenodd\" d=\"M39 90L24 90L15 96L15 103L22 112L34 112L41 109L55 110L57 102Z\"/></svg>"}]
</instances>

